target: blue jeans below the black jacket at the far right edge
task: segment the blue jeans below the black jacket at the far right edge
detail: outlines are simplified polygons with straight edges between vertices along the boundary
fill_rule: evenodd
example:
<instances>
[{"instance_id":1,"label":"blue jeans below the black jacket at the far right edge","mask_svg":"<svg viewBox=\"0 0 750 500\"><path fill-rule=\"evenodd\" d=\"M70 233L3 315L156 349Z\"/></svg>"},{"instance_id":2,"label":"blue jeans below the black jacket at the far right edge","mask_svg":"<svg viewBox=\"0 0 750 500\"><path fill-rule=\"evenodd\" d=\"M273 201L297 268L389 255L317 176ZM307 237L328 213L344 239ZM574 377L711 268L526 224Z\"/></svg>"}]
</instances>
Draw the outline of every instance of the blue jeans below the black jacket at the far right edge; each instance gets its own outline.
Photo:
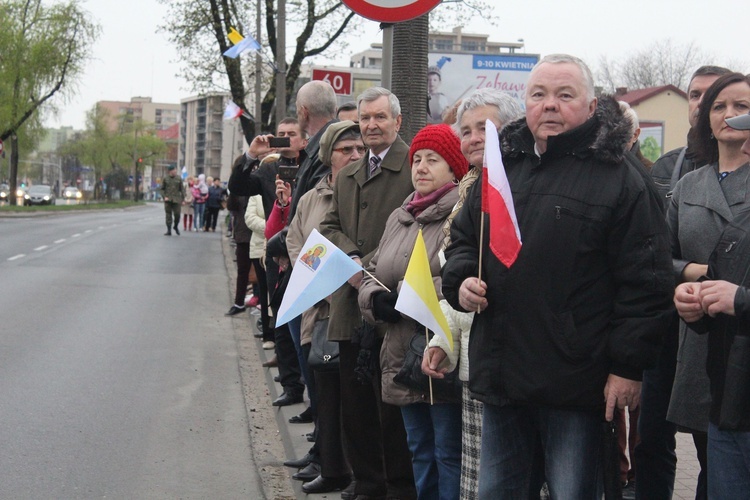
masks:
<instances>
[{"instance_id":1,"label":"blue jeans below the black jacket at the far right edge","mask_svg":"<svg viewBox=\"0 0 750 500\"><path fill-rule=\"evenodd\" d=\"M750 498L750 432L708 424L708 498Z\"/></svg>"}]
</instances>

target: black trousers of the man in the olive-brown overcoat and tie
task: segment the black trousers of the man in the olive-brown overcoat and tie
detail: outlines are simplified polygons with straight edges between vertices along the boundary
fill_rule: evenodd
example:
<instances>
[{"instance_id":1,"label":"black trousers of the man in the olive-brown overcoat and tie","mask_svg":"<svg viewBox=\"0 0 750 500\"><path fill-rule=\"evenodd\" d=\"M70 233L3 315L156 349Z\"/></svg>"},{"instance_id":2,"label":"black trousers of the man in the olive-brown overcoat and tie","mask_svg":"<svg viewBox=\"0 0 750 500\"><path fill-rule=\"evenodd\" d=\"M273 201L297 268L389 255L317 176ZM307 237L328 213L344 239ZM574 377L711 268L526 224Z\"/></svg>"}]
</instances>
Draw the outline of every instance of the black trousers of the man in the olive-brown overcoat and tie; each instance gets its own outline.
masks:
<instances>
[{"instance_id":1,"label":"black trousers of the man in the olive-brown overcoat and tie","mask_svg":"<svg viewBox=\"0 0 750 500\"><path fill-rule=\"evenodd\" d=\"M354 373L358 354L358 344L339 342L344 451L357 480L355 493L417 498L401 410L383 403L380 369L372 384L359 383ZM373 355L379 358L379 344Z\"/></svg>"}]
</instances>

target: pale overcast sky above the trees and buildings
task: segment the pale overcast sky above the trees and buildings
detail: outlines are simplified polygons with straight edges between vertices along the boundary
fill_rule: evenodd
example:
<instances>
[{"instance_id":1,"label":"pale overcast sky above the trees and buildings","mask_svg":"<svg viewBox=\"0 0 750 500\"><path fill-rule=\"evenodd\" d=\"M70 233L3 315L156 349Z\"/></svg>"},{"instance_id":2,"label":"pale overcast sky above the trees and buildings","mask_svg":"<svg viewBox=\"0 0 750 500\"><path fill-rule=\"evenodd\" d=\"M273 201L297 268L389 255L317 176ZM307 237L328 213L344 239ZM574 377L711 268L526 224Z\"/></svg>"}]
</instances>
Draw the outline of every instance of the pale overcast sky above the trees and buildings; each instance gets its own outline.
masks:
<instances>
[{"instance_id":1,"label":"pale overcast sky above the trees and buildings","mask_svg":"<svg viewBox=\"0 0 750 500\"><path fill-rule=\"evenodd\" d=\"M748 0L631 0L617 2L618 6L603 0L487 2L502 4L498 26L477 20L464 31L487 33L497 42L523 39L526 52L565 52L595 66L600 55L616 60L653 41L671 38L678 44L695 42L717 64L734 63L742 66L735 69L750 71ZM48 126L83 128L86 111L100 100L150 96L155 102L177 103L193 94L178 76L180 64L167 34L157 32L157 26L167 21L166 7L156 0L88 0L83 5L101 24L102 36L77 96L60 104L62 112L48 117ZM441 27L441 31L452 28ZM293 40L293 28L287 30L287 39ZM315 62L347 66L350 53L380 41L378 23L364 21L357 35L349 37L346 53L318 57Z\"/></svg>"}]
</instances>

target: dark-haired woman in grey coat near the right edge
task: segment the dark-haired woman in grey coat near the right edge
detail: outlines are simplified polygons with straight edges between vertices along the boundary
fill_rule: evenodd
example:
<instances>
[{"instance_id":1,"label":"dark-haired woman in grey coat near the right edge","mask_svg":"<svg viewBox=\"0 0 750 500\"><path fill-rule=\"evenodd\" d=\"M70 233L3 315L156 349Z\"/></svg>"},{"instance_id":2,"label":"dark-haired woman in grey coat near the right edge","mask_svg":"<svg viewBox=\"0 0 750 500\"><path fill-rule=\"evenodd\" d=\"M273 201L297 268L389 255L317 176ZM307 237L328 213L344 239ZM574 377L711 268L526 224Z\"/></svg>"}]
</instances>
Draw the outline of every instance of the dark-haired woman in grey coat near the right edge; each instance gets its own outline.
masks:
<instances>
[{"instance_id":1,"label":"dark-haired woman in grey coat near the right edge","mask_svg":"<svg viewBox=\"0 0 750 500\"><path fill-rule=\"evenodd\" d=\"M708 257L734 216L750 208L750 165L742 153L747 132L730 128L726 118L750 107L750 80L739 73L722 76L709 87L690 131L691 147L706 165L677 183L667 222L678 282L698 281ZM679 351L667 418L693 435L701 472L696 498L707 498L707 431L711 403L706 373L707 337L680 322Z\"/></svg>"}]
</instances>

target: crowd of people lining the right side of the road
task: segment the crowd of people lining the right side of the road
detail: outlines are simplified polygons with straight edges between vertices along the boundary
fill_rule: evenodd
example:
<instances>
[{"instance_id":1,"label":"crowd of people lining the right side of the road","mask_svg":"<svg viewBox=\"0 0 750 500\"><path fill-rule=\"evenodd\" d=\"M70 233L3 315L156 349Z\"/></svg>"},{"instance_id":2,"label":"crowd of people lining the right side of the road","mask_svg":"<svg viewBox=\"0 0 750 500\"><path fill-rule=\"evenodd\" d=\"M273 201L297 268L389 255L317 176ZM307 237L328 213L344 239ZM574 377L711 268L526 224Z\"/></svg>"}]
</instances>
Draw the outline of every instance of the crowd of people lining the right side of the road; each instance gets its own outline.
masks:
<instances>
[{"instance_id":1,"label":"crowd of people lining the right side of the road","mask_svg":"<svg viewBox=\"0 0 750 500\"><path fill-rule=\"evenodd\" d=\"M476 90L411 144L387 89L340 109L326 82L299 89L297 117L232 169L227 315L261 309L274 406L307 391L290 422L314 422L313 444L285 462L304 492L667 499L679 431L701 464L696 498L748 495L750 79L702 67L688 98L688 146L652 165L634 110L596 96L574 56L540 60L525 110ZM521 240L510 264L490 236L503 216L485 198L487 120ZM215 227L210 189L188 184L166 178L165 207L192 200L197 220L203 199L195 224ZM166 210L177 230L179 208ZM277 326L294 266L317 268L322 250L303 249L315 230L363 271ZM418 233L452 345L396 307ZM413 363L434 393L404 381Z\"/></svg>"}]
</instances>

